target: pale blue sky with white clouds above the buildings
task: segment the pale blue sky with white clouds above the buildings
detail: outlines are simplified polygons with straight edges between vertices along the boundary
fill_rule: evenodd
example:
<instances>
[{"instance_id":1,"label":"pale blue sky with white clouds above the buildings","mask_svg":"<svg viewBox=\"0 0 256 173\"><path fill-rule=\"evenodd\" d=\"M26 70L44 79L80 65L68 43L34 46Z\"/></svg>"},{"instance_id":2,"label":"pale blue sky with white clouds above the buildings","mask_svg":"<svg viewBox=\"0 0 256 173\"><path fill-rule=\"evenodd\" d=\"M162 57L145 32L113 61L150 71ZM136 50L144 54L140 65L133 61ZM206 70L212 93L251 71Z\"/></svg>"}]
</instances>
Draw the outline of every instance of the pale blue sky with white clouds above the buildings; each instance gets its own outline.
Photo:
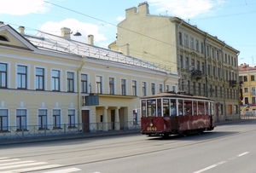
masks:
<instances>
[{"instance_id":1,"label":"pale blue sky with white clouds above the buildings","mask_svg":"<svg viewBox=\"0 0 256 173\"><path fill-rule=\"evenodd\" d=\"M0 0L0 21L18 31L38 31L61 36L68 27L87 43L94 35L96 46L108 48L115 41L117 25L125 20L125 9L140 0ZM177 16L240 51L238 63L256 66L255 0L148 0L149 14Z\"/></svg>"}]
</instances>

